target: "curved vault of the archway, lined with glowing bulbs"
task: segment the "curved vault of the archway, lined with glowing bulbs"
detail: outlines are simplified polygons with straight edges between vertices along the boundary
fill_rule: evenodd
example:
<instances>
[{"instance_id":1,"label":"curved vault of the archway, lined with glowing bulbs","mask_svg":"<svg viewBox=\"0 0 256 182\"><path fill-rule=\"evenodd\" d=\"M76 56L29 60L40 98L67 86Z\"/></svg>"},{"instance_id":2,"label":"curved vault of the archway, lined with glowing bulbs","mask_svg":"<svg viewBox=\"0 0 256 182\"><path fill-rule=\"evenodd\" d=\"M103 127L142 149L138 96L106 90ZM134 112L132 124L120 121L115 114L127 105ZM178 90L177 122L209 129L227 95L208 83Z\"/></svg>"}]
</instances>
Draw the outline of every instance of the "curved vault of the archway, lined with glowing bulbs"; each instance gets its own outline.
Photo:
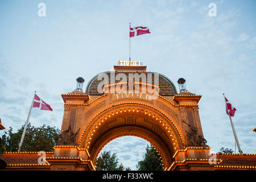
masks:
<instances>
[{"instance_id":1,"label":"curved vault of the archway, lined with glowing bulbs","mask_svg":"<svg viewBox=\"0 0 256 182\"><path fill-rule=\"evenodd\" d=\"M177 127L168 118L152 108L135 105L115 105L98 114L85 127L80 147L87 148L90 160L95 164L102 148L111 140L123 136L146 139L162 156L164 166L170 166L172 156L183 148L183 140Z\"/></svg>"}]
</instances>

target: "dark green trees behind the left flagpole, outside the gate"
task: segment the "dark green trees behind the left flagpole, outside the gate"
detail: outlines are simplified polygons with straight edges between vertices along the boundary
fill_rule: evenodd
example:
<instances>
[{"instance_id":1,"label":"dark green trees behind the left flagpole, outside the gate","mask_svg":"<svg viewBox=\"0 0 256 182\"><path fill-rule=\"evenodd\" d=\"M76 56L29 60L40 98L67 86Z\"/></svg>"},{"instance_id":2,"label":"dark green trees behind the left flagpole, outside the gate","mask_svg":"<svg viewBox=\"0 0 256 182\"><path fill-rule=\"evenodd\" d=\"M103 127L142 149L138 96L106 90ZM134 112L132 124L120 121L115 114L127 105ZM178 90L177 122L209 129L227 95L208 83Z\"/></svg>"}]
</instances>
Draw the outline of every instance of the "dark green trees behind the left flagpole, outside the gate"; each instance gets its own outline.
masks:
<instances>
[{"instance_id":1,"label":"dark green trees behind the left flagpole, outside the gate","mask_svg":"<svg viewBox=\"0 0 256 182\"><path fill-rule=\"evenodd\" d=\"M2 142L5 143L6 151L18 151L23 130L24 126L16 133L13 133L12 127L9 131L5 131L5 134L2 135ZM57 143L59 135L60 130L56 127L46 125L34 127L28 123L21 151L53 151L53 146Z\"/></svg>"}]
</instances>

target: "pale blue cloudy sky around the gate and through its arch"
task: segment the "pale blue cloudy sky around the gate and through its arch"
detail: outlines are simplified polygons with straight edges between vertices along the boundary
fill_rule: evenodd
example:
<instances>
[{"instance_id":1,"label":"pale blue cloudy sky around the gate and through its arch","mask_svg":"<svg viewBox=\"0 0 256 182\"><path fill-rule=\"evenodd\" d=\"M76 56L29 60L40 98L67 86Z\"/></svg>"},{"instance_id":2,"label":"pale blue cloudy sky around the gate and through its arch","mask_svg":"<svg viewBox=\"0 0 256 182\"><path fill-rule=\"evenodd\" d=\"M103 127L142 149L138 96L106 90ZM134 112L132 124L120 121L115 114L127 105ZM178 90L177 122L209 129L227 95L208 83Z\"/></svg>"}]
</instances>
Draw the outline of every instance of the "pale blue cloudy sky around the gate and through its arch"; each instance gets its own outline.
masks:
<instances>
[{"instance_id":1,"label":"pale blue cloudy sky around the gate and through its arch","mask_svg":"<svg viewBox=\"0 0 256 182\"><path fill-rule=\"evenodd\" d=\"M46 16L39 16L39 3ZM209 16L215 3L217 16ZM61 93L129 59L129 23L151 34L131 39L131 59L201 94L204 138L212 151L235 150L222 93L236 107L233 117L244 153L256 153L255 1L5 1L0 2L0 118L6 130L26 121L34 91L53 112L33 109L30 122L60 129ZM86 85L86 84L85 84ZM178 86L177 86L178 87ZM84 86L85 89L85 86ZM0 135L3 131L0 131ZM147 142L113 140L125 167L135 168ZM125 152L130 148L130 152ZM238 150L236 149L238 152Z\"/></svg>"}]
</instances>

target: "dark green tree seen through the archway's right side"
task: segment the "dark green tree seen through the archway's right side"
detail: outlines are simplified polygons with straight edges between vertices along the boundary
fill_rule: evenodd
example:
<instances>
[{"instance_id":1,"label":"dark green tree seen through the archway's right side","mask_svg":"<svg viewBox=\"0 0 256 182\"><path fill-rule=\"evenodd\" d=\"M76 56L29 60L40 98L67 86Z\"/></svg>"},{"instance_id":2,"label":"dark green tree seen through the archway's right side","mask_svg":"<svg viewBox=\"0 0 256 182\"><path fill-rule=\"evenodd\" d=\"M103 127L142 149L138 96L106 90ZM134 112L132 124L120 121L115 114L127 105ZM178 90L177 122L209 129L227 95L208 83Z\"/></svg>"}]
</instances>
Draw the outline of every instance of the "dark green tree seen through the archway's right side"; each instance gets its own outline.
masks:
<instances>
[{"instance_id":1,"label":"dark green tree seen through the archway's right side","mask_svg":"<svg viewBox=\"0 0 256 182\"><path fill-rule=\"evenodd\" d=\"M155 147L147 145L146 154L143 156L144 160L141 160L136 165L138 171L160 171L163 170L163 163L160 155L156 151Z\"/></svg>"}]
</instances>

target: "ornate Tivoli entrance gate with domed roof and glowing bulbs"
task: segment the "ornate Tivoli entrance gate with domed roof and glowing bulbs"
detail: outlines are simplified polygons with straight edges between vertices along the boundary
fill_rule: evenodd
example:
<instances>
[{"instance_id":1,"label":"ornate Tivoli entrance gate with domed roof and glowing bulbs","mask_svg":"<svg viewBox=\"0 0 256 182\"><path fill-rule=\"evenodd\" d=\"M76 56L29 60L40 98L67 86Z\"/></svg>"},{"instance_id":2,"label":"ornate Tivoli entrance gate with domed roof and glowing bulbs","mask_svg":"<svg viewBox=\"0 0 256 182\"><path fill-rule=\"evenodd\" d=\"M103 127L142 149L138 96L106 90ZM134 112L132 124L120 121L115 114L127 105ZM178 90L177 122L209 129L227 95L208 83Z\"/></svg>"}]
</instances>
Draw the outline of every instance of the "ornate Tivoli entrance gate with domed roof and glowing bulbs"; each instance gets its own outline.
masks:
<instances>
[{"instance_id":1,"label":"ornate Tivoli entrance gate with domed roof and glowing bulbs","mask_svg":"<svg viewBox=\"0 0 256 182\"><path fill-rule=\"evenodd\" d=\"M101 149L111 140L126 135L141 137L153 144L166 170L192 169L192 166L210 168L209 147L200 140L203 131L197 104L201 96L187 91L177 93L174 83L160 73L151 84L144 83L143 78L118 82L116 77L111 77L115 73L122 73L122 77L144 73L148 81L154 72L146 72L146 67L115 66L114 69L114 73L99 73L110 82L104 86L104 93L97 90L101 84L98 77L102 76L98 74L88 82L85 93L75 90L61 95L65 103L61 134L67 135L55 146L54 157L47 159L51 168L69 166L73 170L95 170ZM156 78L158 85L155 85ZM110 92L112 86L122 89L123 83L132 84L134 91L134 84L138 84L137 90L145 92ZM158 90L154 99L149 99L151 92L144 85ZM191 159L199 159L200 163Z\"/></svg>"}]
</instances>

